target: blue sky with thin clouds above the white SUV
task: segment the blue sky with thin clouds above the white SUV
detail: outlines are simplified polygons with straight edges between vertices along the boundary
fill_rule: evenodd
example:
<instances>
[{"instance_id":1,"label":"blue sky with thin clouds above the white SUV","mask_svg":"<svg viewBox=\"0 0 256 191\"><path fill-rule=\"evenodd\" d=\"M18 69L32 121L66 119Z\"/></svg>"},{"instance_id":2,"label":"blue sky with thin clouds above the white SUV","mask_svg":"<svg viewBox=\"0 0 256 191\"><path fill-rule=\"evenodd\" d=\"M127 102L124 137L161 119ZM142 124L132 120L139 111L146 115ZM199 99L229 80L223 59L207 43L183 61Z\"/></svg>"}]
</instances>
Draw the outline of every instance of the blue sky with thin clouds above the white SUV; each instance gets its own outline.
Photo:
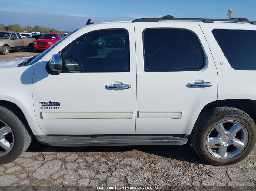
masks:
<instances>
[{"instance_id":1,"label":"blue sky with thin clouds above the white SUV","mask_svg":"<svg viewBox=\"0 0 256 191\"><path fill-rule=\"evenodd\" d=\"M73 31L92 22L132 21L136 18L233 18L256 21L255 0L0 0L0 24L45 26Z\"/></svg>"}]
</instances>

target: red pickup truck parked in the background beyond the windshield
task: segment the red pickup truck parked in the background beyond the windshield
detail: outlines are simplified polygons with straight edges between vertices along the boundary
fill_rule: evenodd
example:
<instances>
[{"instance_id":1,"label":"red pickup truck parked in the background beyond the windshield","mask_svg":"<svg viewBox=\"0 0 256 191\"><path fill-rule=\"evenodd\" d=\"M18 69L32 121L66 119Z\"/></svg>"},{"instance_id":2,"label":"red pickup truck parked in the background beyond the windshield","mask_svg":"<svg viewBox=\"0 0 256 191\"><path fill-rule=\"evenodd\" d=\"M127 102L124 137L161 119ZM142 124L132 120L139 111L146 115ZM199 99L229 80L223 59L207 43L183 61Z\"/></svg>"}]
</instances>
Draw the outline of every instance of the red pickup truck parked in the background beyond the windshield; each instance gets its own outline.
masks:
<instances>
[{"instance_id":1,"label":"red pickup truck parked in the background beyond the windshield","mask_svg":"<svg viewBox=\"0 0 256 191\"><path fill-rule=\"evenodd\" d=\"M64 34L62 33L45 33L38 40L34 41L34 49L36 52L46 50L63 37Z\"/></svg>"}]
</instances>

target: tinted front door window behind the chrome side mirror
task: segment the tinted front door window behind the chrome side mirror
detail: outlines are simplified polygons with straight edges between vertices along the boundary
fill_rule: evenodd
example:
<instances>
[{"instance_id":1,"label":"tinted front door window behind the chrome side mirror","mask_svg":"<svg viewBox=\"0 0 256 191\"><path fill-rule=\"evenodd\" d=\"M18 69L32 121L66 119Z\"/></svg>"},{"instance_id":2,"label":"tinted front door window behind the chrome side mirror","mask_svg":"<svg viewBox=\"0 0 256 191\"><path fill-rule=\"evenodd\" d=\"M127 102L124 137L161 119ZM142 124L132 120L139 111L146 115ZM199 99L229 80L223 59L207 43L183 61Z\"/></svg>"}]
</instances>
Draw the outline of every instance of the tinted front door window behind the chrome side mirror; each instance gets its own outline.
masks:
<instances>
[{"instance_id":1,"label":"tinted front door window behind the chrome side mirror","mask_svg":"<svg viewBox=\"0 0 256 191\"><path fill-rule=\"evenodd\" d=\"M102 37L128 38L126 30L100 30L85 34L62 50L63 71L129 72L129 44L103 43Z\"/></svg>"}]
</instances>

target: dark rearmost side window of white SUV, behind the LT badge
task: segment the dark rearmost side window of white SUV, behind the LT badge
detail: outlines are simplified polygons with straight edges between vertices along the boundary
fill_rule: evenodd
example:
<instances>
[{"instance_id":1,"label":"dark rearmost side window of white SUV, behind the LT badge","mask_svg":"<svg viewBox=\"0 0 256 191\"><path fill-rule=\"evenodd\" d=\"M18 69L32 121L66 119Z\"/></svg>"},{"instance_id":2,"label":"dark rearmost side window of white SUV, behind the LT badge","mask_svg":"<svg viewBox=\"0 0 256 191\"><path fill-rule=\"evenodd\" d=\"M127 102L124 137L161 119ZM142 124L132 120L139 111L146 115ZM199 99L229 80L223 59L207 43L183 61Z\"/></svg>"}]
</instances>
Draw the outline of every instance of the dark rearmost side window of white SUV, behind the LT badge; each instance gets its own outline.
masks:
<instances>
[{"instance_id":1,"label":"dark rearmost side window of white SUV, behind the LT badge","mask_svg":"<svg viewBox=\"0 0 256 191\"><path fill-rule=\"evenodd\" d=\"M214 29L212 34L235 70L256 70L256 31Z\"/></svg>"}]
</instances>

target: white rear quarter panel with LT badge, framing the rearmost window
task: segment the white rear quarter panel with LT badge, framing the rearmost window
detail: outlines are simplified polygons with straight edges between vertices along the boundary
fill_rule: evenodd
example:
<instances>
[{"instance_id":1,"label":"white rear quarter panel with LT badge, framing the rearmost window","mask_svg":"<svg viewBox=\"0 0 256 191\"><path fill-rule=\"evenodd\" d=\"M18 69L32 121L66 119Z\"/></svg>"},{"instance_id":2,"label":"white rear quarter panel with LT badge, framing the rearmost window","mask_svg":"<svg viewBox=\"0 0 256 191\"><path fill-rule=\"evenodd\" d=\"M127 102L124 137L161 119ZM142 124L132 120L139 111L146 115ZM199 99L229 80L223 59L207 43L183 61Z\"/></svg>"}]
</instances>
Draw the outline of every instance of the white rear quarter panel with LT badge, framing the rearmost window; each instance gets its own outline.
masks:
<instances>
[{"instance_id":1,"label":"white rear quarter panel with LT badge, framing the rearmost window","mask_svg":"<svg viewBox=\"0 0 256 191\"><path fill-rule=\"evenodd\" d=\"M215 40L213 29L256 30L256 26L244 23L200 23L200 27L211 49L218 71L218 100L256 100L256 71L234 70ZM247 49L249 47L244 47ZM255 56L255 55L251 55Z\"/></svg>"}]
</instances>

